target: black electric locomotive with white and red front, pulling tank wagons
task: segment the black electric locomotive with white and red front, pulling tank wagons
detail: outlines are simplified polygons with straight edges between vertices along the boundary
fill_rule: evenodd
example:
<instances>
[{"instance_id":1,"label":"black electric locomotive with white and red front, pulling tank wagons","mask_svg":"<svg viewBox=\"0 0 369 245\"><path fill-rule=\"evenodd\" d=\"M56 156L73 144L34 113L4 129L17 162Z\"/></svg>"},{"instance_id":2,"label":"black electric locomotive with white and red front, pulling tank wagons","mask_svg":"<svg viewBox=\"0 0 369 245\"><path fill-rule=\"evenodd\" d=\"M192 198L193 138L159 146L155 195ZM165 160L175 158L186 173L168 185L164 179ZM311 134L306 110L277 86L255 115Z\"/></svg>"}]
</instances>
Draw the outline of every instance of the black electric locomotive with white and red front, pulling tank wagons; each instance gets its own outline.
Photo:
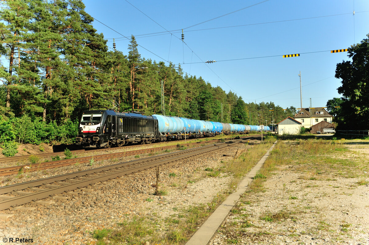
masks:
<instances>
[{"instance_id":1,"label":"black electric locomotive with white and red front, pulling tank wagons","mask_svg":"<svg viewBox=\"0 0 369 245\"><path fill-rule=\"evenodd\" d=\"M93 110L82 113L76 144L110 148L130 142L151 143L158 136L158 120L152 116Z\"/></svg>"}]
</instances>

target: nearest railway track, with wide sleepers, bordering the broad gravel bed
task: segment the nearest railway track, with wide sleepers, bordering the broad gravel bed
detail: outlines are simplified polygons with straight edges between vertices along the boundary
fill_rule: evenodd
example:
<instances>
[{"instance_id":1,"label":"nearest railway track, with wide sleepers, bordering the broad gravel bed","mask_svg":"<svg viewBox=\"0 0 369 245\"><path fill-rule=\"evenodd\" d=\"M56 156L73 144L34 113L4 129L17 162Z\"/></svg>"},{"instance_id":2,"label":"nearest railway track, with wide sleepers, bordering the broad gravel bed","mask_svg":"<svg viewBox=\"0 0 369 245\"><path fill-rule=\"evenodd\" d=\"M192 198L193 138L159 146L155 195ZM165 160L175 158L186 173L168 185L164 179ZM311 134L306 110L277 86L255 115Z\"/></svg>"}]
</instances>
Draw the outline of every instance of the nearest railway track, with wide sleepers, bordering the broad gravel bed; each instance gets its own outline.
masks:
<instances>
[{"instance_id":1,"label":"nearest railway track, with wide sleepers, bordering the broad gravel bed","mask_svg":"<svg viewBox=\"0 0 369 245\"><path fill-rule=\"evenodd\" d=\"M96 182L107 181L108 179L132 174L134 172L160 166L169 162L182 160L184 158L193 157L209 151L218 150L220 148L233 146L239 143L245 143L252 138L255 137L247 137L225 143L217 143L210 146L179 151L176 153L148 157L94 169L87 169L70 174L63 174L10 186L3 186L0 187L0 210L9 209L10 207L44 199L51 195L68 192L70 190L82 188Z\"/></svg>"}]
</instances>

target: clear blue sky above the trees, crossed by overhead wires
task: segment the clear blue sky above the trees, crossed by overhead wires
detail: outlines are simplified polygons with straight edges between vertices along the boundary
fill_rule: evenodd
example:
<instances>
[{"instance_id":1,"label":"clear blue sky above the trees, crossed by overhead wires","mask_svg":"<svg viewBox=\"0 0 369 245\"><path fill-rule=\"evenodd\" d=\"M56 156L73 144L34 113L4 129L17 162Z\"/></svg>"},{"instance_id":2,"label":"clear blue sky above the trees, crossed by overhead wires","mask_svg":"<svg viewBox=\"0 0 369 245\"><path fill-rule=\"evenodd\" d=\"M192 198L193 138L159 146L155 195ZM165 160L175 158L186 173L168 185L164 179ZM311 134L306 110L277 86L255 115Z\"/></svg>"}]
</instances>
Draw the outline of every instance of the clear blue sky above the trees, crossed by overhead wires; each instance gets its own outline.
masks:
<instances>
[{"instance_id":1,"label":"clear blue sky above the trees, crossed by overhead wires","mask_svg":"<svg viewBox=\"0 0 369 245\"><path fill-rule=\"evenodd\" d=\"M283 108L300 108L300 71L303 107L310 98L319 107L340 97L335 67L348 60L347 52L330 50L348 48L369 33L368 0L84 3L87 13L111 28L93 23L110 48L115 38L117 49L127 55L130 41L123 36L134 35L145 59L180 63L187 74L236 92L245 102L272 101ZM300 57L282 57L296 53Z\"/></svg>"}]
</instances>

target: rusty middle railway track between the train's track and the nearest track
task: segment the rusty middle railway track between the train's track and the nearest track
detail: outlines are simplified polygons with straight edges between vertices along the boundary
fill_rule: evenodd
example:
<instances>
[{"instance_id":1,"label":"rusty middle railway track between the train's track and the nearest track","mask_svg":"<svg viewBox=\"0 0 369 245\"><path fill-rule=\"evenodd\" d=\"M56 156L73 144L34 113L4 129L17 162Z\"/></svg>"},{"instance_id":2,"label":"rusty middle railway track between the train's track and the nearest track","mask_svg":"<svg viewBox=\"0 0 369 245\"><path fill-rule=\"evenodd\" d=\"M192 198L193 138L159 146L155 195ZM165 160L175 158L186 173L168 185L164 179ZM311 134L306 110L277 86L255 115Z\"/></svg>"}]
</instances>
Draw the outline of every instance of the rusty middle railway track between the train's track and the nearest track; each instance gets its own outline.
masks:
<instances>
[{"instance_id":1,"label":"rusty middle railway track between the train's track and the nearest track","mask_svg":"<svg viewBox=\"0 0 369 245\"><path fill-rule=\"evenodd\" d=\"M193 142L193 143L182 144L181 146L193 146L196 144L212 143L212 142L219 142L219 140ZM173 146L146 148L146 149L140 149L140 150L123 151L123 152L117 152L117 153L107 153L107 154L94 155L94 156L88 156L88 157L77 157L77 158L70 158L70 159L64 159L64 160L58 160L58 161L41 162L38 164L23 164L23 165L17 165L17 166L3 167L3 168L0 168L0 176L7 176L7 175L13 175L13 174L19 174L19 173L28 173L28 172L40 171L40 170L49 169L49 168L64 167L64 166L69 166L69 165L73 165L77 163L78 164L89 163L92 158L94 161L101 161L101 160L107 160L107 159L117 158L117 157L127 157L130 155L154 153L154 152L169 150L173 148L177 148L177 146L173 145Z\"/></svg>"}]
</instances>

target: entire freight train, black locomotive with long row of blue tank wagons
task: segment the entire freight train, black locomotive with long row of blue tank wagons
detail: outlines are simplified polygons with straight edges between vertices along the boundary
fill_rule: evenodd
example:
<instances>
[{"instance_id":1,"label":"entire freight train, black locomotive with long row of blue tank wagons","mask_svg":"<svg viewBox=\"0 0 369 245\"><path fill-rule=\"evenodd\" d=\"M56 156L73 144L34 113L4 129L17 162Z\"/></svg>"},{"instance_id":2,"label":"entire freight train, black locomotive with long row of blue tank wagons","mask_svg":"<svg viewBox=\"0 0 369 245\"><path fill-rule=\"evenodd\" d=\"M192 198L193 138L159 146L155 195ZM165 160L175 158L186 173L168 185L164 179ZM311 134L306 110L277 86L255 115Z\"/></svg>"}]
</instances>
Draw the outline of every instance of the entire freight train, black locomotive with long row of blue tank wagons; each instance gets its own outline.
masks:
<instances>
[{"instance_id":1,"label":"entire freight train, black locomotive with long row of blue tank wagons","mask_svg":"<svg viewBox=\"0 0 369 245\"><path fill-rule=\"evenodd\" d=\"M270 127L264 126L264 130L270 131ZM260 131L260 127L175 116L93 110L82 113L76 144L82 147L110 148L134 142L145 144L181 140L185 135L187 138L200 138L250 131Z\"/></svg>"}]
</instances>

